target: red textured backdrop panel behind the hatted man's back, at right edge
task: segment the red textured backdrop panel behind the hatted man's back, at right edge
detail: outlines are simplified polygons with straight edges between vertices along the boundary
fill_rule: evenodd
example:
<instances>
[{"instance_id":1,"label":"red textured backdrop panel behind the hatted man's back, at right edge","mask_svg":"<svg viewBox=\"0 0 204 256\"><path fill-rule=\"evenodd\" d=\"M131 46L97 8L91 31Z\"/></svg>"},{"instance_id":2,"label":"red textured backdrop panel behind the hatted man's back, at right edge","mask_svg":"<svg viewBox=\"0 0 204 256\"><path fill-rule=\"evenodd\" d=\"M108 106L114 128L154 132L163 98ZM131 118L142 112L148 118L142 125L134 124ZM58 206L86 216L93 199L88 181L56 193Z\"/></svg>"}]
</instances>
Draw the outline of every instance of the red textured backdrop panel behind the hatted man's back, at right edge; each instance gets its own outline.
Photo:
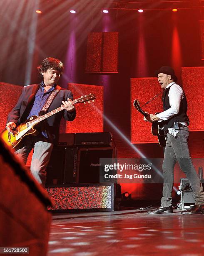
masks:
<instances>
[{"instance_id":1,"label":"red textured backdrop panel behind the hatted man's back, at right edge","mask_svg":"<svg viewBox=\"0 0 204 256\"><path fill-rule=\"evenodd\" d=\"M183 67L182 83L188 102L191 131L204 131L204 67Z\"/></svg>"}]
</instances>

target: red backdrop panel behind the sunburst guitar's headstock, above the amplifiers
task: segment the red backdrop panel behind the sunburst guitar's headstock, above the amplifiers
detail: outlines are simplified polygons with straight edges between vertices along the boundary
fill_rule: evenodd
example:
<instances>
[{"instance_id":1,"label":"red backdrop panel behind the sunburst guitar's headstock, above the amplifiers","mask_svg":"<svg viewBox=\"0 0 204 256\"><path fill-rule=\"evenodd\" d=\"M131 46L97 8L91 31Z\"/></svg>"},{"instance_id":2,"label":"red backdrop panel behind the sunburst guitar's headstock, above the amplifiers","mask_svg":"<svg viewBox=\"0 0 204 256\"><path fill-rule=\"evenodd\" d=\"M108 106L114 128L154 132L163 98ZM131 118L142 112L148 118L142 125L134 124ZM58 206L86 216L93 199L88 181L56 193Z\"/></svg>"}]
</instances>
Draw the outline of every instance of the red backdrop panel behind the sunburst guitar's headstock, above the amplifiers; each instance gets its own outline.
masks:
<instances>
[{"instance_id":1,"label":"red backdrop panel behind the sunburst guitar's headstock, above the amplifiers","mask_svg":"<svg viewBox=\"0 0 204 256\"><path fill-rule=\"evenodd\" d=\"M95 102L86 102L86 105L83 103L75 104L77 117L73 122L67 122L66 133L103 132L103 87L72 83L68 87L73 92L74 99L89 93L93 93L96 99Z\"/></svg>"}]
</instances>

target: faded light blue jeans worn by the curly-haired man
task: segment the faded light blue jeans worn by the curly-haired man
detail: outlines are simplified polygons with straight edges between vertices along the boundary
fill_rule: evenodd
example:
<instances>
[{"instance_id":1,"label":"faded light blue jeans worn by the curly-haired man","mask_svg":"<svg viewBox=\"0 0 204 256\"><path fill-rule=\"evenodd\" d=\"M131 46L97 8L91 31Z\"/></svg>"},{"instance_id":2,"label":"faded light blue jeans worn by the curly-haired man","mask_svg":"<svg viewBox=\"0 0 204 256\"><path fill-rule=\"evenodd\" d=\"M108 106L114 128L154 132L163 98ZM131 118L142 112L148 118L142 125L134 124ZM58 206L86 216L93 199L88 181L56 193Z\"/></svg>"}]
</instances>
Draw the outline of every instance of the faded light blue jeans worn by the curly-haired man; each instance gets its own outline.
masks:
<instances>
[{"instance_id":1,"label":"faded light blue jeans worn by the curly-haired man","mask_svg":"<svg viewBox=\"0 0 204 256\"><path fill-rule=\"evenodd\" d=\"M34 149L30 172L33 177L45 187L46 167L50 160L53 144L43 141L41 136L24 138L23 144L24 146L17 149L15 154L26 164L28 154L32 148Z\"/></svg>"}]
</instances>

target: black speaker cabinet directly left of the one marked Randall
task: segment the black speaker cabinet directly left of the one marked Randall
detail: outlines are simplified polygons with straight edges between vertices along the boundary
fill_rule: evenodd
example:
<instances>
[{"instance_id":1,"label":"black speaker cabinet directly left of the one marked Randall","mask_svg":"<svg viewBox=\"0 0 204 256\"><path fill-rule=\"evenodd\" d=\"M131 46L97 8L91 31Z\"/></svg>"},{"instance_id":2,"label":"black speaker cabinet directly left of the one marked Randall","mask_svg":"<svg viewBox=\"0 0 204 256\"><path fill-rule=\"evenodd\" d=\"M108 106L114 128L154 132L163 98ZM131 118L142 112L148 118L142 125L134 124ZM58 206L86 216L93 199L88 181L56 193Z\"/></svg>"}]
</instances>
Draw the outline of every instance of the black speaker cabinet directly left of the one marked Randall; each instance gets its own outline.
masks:
<instances>
[{"instance_id":1,"label":"black speaker cabinet directly left of the one marked Randall","mask_svg":"<svg viewBox=\"0 0 204 256\"><path fill-rule=\"evenodd\" d=\"M76 183L77 150L66 146L53 148L47 166L46 185Z\"/></svg>"}]
</instances>

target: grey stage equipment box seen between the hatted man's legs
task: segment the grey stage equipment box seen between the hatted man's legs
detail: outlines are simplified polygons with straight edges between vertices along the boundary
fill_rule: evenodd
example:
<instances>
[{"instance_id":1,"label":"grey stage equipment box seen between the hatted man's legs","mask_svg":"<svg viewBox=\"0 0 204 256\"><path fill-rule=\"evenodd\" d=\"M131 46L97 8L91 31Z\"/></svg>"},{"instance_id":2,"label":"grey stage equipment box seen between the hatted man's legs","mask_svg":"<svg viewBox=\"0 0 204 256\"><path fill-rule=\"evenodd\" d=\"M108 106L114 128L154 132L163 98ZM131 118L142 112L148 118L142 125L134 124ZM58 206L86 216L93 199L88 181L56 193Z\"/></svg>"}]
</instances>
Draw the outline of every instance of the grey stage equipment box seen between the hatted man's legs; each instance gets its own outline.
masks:
<instances>
[{"instance_id":1,"label":"grey stage equipment box seen between the hatted man's legs","mask_svg":"<svg viewBox=\"0 0 204 256\"><path fill-rule=\"evenodd\" d=\"M204 187L204 179L200 179L200 181ZM181 210L184 210L184 209L189 208L190 206L194 205L195 200L193 197L193 189L190 186L189 179L187 179L187 178L180 179L179 190L181 192L181 200L178 205L179 208Z\"/></svg>"}]
</instances>

